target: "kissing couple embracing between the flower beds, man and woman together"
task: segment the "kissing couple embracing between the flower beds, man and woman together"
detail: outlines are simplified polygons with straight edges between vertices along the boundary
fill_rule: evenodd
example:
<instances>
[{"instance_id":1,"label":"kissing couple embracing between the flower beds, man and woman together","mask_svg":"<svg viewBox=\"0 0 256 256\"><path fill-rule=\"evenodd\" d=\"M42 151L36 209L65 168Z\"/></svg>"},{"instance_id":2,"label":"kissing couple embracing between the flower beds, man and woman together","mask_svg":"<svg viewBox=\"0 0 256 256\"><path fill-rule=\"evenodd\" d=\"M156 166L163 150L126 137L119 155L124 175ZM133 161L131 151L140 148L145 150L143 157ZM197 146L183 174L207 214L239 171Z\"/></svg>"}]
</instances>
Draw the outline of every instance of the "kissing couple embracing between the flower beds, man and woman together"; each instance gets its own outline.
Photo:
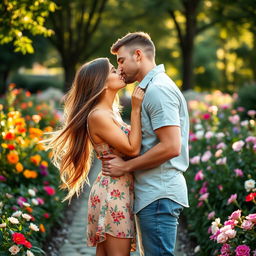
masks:
<instances>
[{"instance_id":1,"label":"kissing couple embracing between the flower beds, man and woman together","mask_svg":"<svg viewBox=\"0 0 256 256\"><path fill-rule=\"evenodd\" d=\"M164 65L156 65L148 34L125 35L111 53L118 69L99 58L77 71L65 98L65 123L49 142L53 162L70 199L88 180L93 149L102 160L88 201L87 243L97 256L130 255L136 229L145 256L171 256L180 212L188 207L186 101ZM136 81L127 125L114 102Z\"/></svg>"}]
</instances>

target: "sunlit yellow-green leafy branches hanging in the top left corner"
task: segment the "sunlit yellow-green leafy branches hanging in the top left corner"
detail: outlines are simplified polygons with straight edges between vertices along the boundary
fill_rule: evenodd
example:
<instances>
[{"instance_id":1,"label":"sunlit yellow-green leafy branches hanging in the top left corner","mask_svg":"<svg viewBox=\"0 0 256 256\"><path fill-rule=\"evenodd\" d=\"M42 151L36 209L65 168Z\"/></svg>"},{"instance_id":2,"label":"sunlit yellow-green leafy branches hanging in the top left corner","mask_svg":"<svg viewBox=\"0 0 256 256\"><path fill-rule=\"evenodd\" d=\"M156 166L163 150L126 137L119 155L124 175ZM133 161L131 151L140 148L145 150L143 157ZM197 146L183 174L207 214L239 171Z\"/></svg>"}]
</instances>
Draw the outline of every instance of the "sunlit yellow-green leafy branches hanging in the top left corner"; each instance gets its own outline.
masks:
<instances>
[{"instance_id":1,"label":"sunlit yellow-green leafy branches hanging in the top left corner","mask_svg":"<svg viewBox=\"0 0 256 256\"><path fill-rule=\"evenodd\" d=\"M0 44L12 42L16 52L33 53L32 35L50 36L44 24L56 4L50 0L2 0L0 2Z\"/></svg>"}]
</instances>

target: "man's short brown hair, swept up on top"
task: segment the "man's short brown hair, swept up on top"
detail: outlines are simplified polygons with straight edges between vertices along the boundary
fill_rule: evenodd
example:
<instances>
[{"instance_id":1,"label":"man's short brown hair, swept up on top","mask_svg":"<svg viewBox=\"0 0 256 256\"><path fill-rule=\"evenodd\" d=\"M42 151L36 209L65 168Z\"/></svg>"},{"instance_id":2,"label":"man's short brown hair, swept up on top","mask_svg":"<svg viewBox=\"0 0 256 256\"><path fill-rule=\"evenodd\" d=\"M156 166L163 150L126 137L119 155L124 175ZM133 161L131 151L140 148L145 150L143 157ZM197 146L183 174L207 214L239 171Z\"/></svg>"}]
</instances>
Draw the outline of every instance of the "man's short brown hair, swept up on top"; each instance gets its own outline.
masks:
<instances>
[{"instance_id":1,"label":"man's short brown hair, swept up on top","mask_svg":"<svg viewBox=\"0 0 256 256\"><path fill-rule=\"evenodd\" d=\"M122 47L142 47L143 50L147 53L150 53L152 57L155 57L155 45L152 42L149 34L145 32L133 32L128 33L122 38L119 38L112 46L111 46L111 53L116 54L117 51Z\"/></svg>"}]
</instances>

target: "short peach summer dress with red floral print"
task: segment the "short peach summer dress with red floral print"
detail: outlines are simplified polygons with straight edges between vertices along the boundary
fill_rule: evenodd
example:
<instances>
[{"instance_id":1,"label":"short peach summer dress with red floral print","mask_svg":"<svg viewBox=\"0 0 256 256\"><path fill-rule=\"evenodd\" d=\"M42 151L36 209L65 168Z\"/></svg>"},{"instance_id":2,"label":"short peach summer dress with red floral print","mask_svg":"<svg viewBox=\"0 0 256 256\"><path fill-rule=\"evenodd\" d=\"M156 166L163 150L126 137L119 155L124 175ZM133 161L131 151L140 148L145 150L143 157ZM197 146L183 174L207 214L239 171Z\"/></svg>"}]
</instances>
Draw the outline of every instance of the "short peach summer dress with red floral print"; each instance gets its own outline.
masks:
<instances>
[{"instance_id":1,"label":"short peach summer dress with red floral print","mask_svg":"<svg viewBox=\"0 0 256 256\"><path fill-rule=\"evenodd\" d=\"M129 134L130 129L127 124L122 122L119 126L125 134ZM91 138L90 133L89 137ZM91 142L98 158L109 153L116 154L115 150L106 143L95 144L92 138ZM135 251L133 202L132 174L110 177L100 172L91 188L88 200L87 245L94 247L97 243L105 241L106 234L109 234L117 238L132 238L131 251Z\"/></svg>"}]
</instances>

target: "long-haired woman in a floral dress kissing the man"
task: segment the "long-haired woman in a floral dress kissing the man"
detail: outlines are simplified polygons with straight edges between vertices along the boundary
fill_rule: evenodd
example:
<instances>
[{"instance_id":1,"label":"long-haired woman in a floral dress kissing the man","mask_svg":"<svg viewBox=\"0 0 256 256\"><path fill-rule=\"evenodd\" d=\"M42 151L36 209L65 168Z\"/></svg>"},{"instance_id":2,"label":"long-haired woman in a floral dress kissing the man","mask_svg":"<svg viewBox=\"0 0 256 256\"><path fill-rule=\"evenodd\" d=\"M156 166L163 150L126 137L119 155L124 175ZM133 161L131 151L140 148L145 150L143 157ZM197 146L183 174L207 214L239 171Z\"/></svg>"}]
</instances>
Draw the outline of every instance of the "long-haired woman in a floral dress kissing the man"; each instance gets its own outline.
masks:
<instances>
[{"instance_id":1,"label":"long-haired woman in a floral dress kissing the man","mask_svg":"<svg viewBox=\"0 0 256 256\"><path fill-rule=\"evenodd\" d=\"M53 163L60 169L67 188L64 200L79 195L91 165L92 148L100 158L107 153L133 157L141 145L140 110L144 93L132 95L131 128L113 110L123 78L107 58L84 64L78 70L65 100L65 123L48 140ZM88 246L96 246L97 256L126 256L133 250L133 177L111 178L100 172L88 202Z\"/></svg>"}]
</instances>

